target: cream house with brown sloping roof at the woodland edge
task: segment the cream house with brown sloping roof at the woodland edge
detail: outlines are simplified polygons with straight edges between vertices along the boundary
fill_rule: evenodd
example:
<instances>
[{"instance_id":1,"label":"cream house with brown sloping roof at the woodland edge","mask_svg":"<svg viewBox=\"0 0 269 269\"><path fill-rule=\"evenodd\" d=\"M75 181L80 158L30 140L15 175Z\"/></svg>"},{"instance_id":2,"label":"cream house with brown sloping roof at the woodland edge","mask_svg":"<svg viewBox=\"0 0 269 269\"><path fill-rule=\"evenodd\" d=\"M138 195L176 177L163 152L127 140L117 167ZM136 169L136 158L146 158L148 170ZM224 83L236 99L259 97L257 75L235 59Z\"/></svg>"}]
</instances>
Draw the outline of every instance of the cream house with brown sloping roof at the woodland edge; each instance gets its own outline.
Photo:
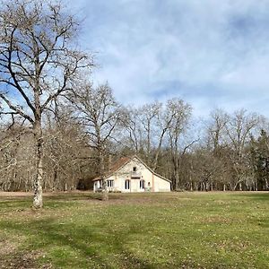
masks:
<instances>
[{"instance_id":1,"label":"cream house with brown sloping roof at the woodland edge","mask_svg":"<svg viewBox=\"0 0 269 269\"><path fill-rule=\"evenodd\" d=\"M171 189L169 179L155 173L137 156L121 158L104 178L111 192L169 192ZM102 187L101 178L94 178L93 182L93 190L98 191Z\"/></svg>"}]
</instances>

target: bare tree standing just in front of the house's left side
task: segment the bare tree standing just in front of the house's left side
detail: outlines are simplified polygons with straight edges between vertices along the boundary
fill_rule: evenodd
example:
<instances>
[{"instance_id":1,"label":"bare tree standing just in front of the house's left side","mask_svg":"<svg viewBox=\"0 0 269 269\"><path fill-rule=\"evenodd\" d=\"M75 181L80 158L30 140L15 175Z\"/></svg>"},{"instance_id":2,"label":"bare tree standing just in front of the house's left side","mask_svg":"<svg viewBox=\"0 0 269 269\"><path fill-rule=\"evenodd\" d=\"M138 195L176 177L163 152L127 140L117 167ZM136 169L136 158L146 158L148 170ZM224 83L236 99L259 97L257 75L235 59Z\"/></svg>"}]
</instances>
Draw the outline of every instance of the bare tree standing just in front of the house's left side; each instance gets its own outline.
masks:
<instances>
[{"instance_id":1,"label":"bare tree standing just in front of the house's left side","mask_svg":"<svg viewBox=\"0 0 269 269\"><path fill-rule=\"evenodd\" d=\"M108 200L105 173L105 156L109 152L111 139L115 138L121 120L121 107L115 100L108 84L93 88L91 84L74 91L70 100L74 104L75 118L85 127L89 146L98 152L100 178L103 182L103 200Z\"/></svg>"}]
</instances>

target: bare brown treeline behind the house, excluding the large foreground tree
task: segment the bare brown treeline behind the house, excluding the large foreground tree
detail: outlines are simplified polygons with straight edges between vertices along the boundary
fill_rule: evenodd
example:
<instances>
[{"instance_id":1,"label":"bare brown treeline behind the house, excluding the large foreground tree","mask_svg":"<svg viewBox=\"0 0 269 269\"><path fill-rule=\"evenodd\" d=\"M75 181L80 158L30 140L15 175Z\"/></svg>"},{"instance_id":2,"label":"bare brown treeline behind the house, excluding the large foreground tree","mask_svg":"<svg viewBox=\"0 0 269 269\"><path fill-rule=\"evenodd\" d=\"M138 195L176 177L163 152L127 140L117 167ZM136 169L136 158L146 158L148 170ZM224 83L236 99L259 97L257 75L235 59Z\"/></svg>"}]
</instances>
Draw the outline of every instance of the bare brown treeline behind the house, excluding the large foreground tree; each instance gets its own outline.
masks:
<instances>
[{"instance_id":1,"label":"bare brown treeline behind the house, excluding the large foreground tree","mask_svg":"<svg viewBox=\"0 0 269 269\"><path fill-rule=\"evenodd\" d=\"M44 117L45 191L89 188L111 162L133 154L171 179L174 190L268 190L265 117L215 109L198 120L184 100L125 107L108 84L80 87ZM3 123L1 190L32 190L34 143L30 126Z\"/></svg>"}]
</instances>

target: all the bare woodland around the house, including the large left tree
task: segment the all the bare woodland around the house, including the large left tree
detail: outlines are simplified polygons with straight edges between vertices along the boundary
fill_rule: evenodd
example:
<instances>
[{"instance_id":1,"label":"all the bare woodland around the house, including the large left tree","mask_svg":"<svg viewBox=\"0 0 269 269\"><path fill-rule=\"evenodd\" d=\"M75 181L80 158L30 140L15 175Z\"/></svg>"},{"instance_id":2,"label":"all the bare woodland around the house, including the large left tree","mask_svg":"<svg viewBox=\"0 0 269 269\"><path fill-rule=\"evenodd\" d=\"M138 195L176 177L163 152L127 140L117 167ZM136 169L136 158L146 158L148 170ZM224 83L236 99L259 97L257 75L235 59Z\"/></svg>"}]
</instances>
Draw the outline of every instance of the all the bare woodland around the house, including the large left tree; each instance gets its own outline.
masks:
<instances>
[{"instance_id":1,"label":"all the bare woodland around the house, including the large left tree","mask_svg":"<svg viewBox=\"0 0 269 269\"><path fill-rule=\"evenodd\" d=\"M195 117L173 99L126 105L97 84L80 22L62 4L0 9L0 190L91 186L111 162L136 154L175 191L268 190L268 119L241 108Z\"/></svg>"}]
</instances>

